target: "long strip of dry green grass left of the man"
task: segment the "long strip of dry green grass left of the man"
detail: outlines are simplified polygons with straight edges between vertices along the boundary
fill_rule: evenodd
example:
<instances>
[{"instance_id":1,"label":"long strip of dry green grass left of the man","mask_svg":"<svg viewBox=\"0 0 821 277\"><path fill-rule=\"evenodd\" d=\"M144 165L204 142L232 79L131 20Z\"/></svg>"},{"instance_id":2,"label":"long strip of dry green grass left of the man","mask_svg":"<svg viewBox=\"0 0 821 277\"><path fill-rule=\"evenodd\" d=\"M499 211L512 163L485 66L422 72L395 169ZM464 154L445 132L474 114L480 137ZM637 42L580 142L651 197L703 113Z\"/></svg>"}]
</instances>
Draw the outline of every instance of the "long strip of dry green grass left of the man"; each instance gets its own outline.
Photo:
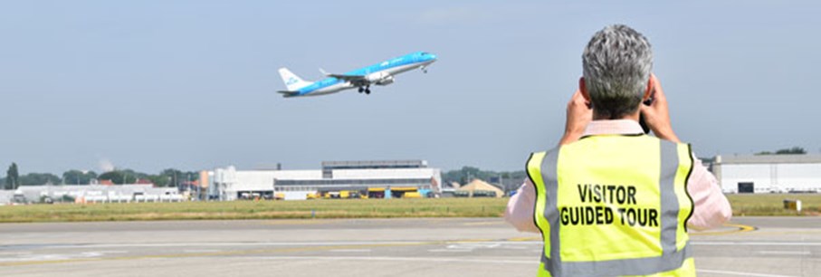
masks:
<instances>
[{"instance_id":1,"label":"long strip of dry green grass left of the man","mask_svg":"<svg viewBox=\"0 0 821 277\"><path fill-rule=\"evenodd\" d=\"M497 217L506 198L317 199L0 206L0 223L195 219Z\"/></svg>"}]
</instances>

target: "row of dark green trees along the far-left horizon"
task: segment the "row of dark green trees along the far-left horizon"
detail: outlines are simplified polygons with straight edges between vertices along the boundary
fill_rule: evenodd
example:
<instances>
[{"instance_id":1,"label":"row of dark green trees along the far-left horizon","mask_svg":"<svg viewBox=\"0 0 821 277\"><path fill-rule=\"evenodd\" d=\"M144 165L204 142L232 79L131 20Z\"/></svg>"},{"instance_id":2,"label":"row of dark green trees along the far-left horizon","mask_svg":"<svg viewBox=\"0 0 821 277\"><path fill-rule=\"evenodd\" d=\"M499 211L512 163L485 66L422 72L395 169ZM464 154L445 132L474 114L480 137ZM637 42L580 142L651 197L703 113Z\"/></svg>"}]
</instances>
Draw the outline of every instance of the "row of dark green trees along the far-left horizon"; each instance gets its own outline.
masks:
<instances>
[{"instance_id":1,"label":"row of dark green trees along the far-left horizon","mask_svg":"<svg viewBox=\"0 0 821 277\"><path fill-rule=\"evenodd\" d=\"M177 186L186 181L196 181L199 173L167 168L159 174L147 174L132 169L114 169L98 175L94 171L72 169L58 177L51 173L28 173L20 175L16 163L12 163L5 172L5 178L0 178L0 188L17 189L19 186L39 185L89 185L92 180L110 180L115 185L135 184L138 179L145 179L154 186Z\"/></svg>"}]
</instances>

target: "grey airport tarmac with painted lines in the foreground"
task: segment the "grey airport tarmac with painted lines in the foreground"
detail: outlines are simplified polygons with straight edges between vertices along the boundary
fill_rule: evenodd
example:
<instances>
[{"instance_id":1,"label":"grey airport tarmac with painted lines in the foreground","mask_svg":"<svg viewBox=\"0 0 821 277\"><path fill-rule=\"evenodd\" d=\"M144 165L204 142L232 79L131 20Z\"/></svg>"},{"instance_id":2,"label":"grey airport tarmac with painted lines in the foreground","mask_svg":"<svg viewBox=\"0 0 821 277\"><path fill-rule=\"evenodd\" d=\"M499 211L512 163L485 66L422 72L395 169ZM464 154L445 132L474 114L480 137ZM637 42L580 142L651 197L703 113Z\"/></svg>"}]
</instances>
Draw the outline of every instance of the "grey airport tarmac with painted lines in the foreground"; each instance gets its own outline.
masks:
<instances>
[{"instance_id":1,"label":"grey airport tarmac with painted lines in the foreground","mask_svg":"<svg viewBox=\"0 0 821 277\"><path fill-rule=\"evenodd\" d=\"M692 234L700 276L818 276L821 219ZM534 276L501 218L0 224L0 276Z\"/></svg>"}]
</instances>

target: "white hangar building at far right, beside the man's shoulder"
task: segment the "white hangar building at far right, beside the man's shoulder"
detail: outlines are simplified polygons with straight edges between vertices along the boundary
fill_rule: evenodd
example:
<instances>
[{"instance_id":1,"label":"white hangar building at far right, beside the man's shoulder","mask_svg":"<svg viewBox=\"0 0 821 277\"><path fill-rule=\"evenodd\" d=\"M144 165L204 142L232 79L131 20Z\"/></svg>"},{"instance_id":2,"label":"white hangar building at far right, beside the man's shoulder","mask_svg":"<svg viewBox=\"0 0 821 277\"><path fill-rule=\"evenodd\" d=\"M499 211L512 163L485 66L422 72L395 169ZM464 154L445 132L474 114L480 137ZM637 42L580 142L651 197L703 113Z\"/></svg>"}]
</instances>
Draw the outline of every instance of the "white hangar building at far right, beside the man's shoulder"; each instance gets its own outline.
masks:
<instances>
[{"instance_id":1,"label":"white hangar building at far right, beside the man's shoulder","mask_svg":"<svg viewBox=\"0 0 821 277\"><path fill-rule=\"evenodd\" d=\"M717 156L712 171L727 193L821 192L821 155Z\"/></svg>"}]
</instances>

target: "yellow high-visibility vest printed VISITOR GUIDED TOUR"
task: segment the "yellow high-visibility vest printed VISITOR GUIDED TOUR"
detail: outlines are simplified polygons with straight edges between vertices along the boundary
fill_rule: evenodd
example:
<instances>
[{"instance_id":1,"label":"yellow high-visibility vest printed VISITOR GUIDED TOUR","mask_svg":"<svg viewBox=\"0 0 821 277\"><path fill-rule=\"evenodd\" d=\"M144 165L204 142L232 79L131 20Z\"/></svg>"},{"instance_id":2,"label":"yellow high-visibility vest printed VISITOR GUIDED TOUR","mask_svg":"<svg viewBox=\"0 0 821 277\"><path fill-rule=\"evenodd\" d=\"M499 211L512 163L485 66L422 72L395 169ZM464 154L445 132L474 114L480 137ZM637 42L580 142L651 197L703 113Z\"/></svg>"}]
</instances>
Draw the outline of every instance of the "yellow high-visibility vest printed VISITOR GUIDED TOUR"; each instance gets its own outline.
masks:
<instances>
[{"instance_id":1,"label":"yellow high-visibility vest printed VISITOR GUIDED TOUR","mask_svg":"<svg viewBox=\"0 0 821 277\"><path fill-rule=\"evenodd\" d=\"M695 276L689 145L590 136L533 153L527 171L544 239L539 276Z\"/></svg>"}]
</instances>

